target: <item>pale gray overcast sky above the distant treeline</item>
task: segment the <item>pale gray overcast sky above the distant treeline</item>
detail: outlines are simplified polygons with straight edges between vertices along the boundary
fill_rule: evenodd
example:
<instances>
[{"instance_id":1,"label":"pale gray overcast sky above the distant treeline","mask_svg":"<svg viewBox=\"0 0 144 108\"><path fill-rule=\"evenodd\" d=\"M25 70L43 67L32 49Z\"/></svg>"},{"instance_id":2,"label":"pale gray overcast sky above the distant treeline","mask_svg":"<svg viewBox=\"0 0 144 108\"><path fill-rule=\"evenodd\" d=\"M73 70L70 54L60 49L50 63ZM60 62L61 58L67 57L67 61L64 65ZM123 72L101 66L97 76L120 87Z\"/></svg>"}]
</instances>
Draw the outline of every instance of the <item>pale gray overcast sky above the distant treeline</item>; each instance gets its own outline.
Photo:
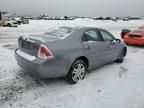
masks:
<instances>
[{"instance_id":1,"label":"pale gray overcast sky above the distant treeline","mask_svg":"<svg viewBox=\"0 0 144 108\"><path fill-rule=\"evenodd\" d=\"M144 16L144 0L0 0L0 10L19 15Z\"/></svg>"}]
</instances>

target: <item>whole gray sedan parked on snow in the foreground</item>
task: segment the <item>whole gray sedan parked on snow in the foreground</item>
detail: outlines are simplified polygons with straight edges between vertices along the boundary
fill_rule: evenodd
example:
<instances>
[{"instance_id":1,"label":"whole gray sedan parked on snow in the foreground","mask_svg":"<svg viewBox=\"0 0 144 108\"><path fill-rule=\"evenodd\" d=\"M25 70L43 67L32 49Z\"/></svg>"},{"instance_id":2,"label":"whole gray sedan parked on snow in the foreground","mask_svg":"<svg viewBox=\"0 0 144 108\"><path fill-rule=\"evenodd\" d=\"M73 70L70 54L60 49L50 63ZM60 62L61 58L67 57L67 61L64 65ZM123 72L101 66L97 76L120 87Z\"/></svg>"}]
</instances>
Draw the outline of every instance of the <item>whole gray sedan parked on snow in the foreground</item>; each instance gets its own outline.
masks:
<instances>
[{"instance_id":1,"label":"whole gray sedan parked on snow in the foreground","mask_svg":"<svg viewBox=\"0 0 144 108\"><path fill-rule=\"evenodd\" d=\"M116 61L122 63L126 45L104 29L58 27L43 35L21 36L17 63L41 78L66 77L75 84L87 70Z\"/></svg>"}]
</instances>

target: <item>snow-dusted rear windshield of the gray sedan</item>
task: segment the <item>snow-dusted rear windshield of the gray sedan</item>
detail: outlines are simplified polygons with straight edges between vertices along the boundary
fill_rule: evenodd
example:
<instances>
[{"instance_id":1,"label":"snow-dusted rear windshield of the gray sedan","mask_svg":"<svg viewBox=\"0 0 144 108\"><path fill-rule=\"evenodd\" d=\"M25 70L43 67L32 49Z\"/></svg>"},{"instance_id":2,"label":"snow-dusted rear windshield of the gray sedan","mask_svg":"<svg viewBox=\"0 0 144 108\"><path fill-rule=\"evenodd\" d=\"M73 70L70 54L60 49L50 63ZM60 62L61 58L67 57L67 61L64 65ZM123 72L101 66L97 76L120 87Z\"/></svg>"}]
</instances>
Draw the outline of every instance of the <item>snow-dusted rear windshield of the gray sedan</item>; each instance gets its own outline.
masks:
<instances>
[{"instance_id":1,"label":"snow-dusted rear windshield of the gray sedan","mask_svg":"<svg viewBox=\"0 0 144 108\"><path fill-rule=\"evenodd\" d=\"M57 29L50 30L48 32L45 32L45 37L54 36L54 37L64 37L67 34L73 32L76 28L72 27L59 27Z\"/></svg>"}]
</instances>

